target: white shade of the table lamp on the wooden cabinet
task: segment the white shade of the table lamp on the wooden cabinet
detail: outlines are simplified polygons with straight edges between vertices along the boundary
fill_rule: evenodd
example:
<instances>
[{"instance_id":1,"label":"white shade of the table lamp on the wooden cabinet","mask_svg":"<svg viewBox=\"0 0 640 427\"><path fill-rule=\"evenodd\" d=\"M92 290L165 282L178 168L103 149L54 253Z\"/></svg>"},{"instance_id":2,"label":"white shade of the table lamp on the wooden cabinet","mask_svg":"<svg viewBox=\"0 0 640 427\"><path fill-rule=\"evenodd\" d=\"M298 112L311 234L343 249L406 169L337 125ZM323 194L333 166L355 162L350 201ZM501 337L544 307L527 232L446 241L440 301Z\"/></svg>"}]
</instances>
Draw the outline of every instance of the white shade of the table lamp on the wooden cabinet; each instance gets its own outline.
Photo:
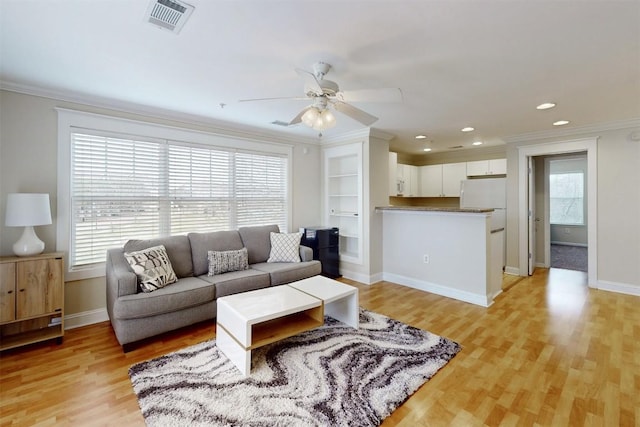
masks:
<instances>
[{"instance_id":1,"label":"white shade of the table lamp on the wooden cabinet","mask_svg":"<svg viewBox=\"0 0 640 427\"><path fill-rule=\"evenodd\" d=\"M7 227L51 224L49 195L41 193L11 193L7 196Z\"/></svg>"}]
</instances>

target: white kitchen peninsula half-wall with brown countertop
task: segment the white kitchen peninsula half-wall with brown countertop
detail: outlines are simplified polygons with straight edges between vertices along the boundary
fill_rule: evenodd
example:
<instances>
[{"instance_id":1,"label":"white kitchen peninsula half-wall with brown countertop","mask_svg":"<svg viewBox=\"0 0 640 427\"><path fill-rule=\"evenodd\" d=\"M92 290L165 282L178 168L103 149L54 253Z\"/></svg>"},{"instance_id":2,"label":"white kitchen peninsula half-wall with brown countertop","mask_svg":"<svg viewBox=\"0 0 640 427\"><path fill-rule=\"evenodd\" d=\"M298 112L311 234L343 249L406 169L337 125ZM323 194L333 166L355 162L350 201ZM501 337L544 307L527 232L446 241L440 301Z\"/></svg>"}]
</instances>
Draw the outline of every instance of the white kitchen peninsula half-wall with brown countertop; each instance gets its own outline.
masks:
<instances>
[{"instance_id":1,"label":"white kitchen peninsula half-wall with brown countertop","mask_svg":"<svg viewBox=\"0 0 640 427\"><path fill-rule=\"evenodd\" d=\"M494 209L380 206L383 280L483 307L502 291ZM494 232L492 232L494 231Z\"/></svg>"}]
</instances>

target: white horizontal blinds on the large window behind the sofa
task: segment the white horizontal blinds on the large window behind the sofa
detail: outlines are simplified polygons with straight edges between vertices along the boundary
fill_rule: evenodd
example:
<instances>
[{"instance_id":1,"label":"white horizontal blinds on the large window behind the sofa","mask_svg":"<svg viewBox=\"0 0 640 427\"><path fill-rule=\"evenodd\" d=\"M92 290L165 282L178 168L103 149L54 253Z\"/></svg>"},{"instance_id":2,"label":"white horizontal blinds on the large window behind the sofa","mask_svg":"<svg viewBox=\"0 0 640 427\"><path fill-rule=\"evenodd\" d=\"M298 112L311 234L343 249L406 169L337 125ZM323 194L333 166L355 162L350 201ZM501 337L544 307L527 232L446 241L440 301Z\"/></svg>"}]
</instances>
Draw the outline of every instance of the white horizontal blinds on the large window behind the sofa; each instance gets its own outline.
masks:
<instances>
[{"instance_id":1,"label":"white horizontal blinds on the large window behind the sofa","mask_svg":"<svg viewBox=\"0 0 640 427\"><path fill-rule=\"evenodd\" d=\"M278 224L287 157L97 131L71 133L70 268L129 239Z\"/></svg>"}]
</instances>

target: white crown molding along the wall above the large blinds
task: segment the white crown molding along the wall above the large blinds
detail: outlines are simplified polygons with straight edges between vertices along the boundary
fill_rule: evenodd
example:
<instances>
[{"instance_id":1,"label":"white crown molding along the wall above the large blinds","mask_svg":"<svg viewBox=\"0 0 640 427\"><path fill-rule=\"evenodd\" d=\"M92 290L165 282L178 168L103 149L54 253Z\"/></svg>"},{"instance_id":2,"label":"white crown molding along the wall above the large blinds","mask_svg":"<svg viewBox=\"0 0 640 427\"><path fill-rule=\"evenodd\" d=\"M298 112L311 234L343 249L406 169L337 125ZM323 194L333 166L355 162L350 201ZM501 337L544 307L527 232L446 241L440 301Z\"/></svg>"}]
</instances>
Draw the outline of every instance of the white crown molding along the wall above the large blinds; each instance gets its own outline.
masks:
<instances>
[{"instance_id":1,"label":"white crown molding along the wall above the large blinds","mask_svg":"<svg viewBox=\"0 0 640 427\"><path fill-rule=\"evenodd\" d=\"M238 123L225 122L211 119L196 114L181 113L178 111L163 108L150 107L147 105L135 104L126 101L119 101L113 98L105 98L94 95L79 94L70 91L45 89L36 86L23 85L0 80L0 90L16 92L24 95L48 98L55 101L71 102L94 108L103 108L121 113L135 114L155 119L170 120L184 125L205 126L207 132L223 134L242 139L260 139L288 144L311 144L322 145L322 141L315 137L291 135L284 132L269 131L252 126L245 126Z\"/></svg>"}]
</instances>

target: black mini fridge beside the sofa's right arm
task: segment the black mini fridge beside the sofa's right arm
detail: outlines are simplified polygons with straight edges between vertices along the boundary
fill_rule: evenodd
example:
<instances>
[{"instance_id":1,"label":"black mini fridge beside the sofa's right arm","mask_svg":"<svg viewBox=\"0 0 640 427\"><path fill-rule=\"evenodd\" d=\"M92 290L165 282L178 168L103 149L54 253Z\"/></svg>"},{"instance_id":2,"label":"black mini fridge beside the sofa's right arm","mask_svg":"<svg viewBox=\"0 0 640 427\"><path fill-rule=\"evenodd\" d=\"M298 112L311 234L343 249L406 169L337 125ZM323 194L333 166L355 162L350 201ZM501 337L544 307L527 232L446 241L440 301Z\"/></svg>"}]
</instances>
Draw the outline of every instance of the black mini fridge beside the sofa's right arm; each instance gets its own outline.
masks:
<instances>
[{"instance_id":1,"label":"black mini fridge beside the sofa's right arm","mask_svg":"<svg viewBox=\"0 0 640 427\"><path fill-rule=\"evenodd\" d=\"M340 230L337 227L307 227L301 229L301 245L313 249L313 259L322 264L322 275L340 277Z\"/></svg>"}]
</instances>

